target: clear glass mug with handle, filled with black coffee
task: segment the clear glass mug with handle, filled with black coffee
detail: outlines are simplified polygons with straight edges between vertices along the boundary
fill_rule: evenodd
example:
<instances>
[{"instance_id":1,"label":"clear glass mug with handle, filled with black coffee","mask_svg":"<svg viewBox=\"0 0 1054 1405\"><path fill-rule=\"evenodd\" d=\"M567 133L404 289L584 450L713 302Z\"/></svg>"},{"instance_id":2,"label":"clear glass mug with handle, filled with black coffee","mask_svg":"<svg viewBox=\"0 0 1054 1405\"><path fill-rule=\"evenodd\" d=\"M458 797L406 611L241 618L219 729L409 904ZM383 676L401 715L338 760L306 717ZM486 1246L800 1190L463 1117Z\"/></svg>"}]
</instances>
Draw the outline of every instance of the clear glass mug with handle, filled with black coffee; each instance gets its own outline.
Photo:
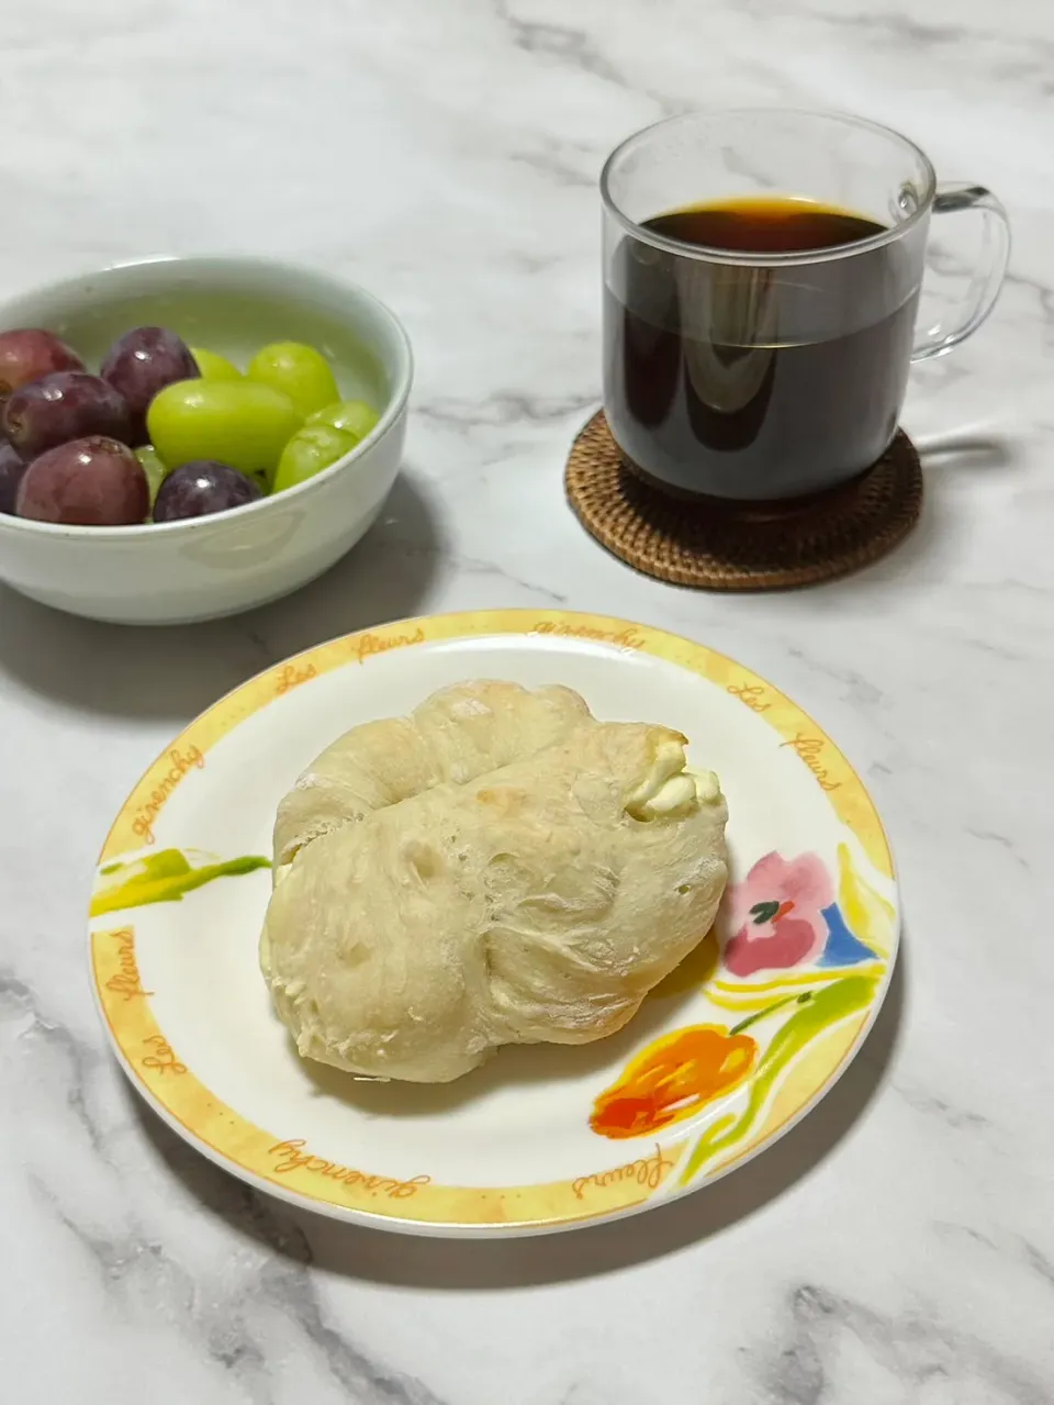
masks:
<instances>
[{"instance_id":1,"label":"clear glass mug with handle, filled with black coffee","mask_svg":"<svg viewBox=\"0 0 1054 1405\"><path fill-rule=\"evenodd\" d=\"M987 190L938 185L907 138L838 114L668 118L609 156L601 198L608 423L632 469L692 497L800 497L874 464L897 431L911 362L984 322L1010 247ZM730 247L683 242L671 228L691 223L689 207L748 222L820 211L850 242L780 249L763 236L758 247L742 223ZM672 211L686 214L658 218ZM919 337L930 215L959 212L982 221L967 305Z\"/></svg>"}]
</instances>

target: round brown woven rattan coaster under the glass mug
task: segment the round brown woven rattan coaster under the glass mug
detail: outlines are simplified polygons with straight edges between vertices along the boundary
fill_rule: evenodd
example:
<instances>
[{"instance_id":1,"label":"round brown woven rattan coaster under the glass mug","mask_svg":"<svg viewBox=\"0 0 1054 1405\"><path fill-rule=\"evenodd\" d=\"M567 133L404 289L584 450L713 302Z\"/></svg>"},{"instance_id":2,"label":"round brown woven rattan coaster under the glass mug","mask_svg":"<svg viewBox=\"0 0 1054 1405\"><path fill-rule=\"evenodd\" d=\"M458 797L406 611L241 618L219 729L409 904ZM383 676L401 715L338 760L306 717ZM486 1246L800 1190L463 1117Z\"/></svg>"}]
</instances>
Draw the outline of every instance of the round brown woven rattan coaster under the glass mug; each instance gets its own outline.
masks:
<instances>
[{"instance_id":1,"label":"round brown woven rattan coaster under the glass mug","mask_svg":"<svg viewBox=\"0 0 1054 1405\"><path fill-rule=\"evenodd\" d=\"M900 430L879 462L829 493L772 507L696 506L636 478L603 410L567 461L567 499L601 545L660 580L703 590L779 590L843 576L883 556L918 521L922 469Z\"/></svg>"}]
</instances>

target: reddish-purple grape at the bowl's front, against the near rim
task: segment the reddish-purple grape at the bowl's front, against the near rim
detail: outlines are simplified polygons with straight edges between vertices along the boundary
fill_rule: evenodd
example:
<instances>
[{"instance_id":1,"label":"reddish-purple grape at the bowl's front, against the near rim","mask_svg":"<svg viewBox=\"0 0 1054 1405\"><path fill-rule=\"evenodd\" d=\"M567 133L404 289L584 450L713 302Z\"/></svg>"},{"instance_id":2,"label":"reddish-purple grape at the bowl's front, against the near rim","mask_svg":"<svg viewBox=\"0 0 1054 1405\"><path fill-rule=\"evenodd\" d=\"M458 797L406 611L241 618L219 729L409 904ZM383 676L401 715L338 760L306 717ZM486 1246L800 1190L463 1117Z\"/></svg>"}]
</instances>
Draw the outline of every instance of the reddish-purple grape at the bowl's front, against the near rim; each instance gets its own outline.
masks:
<instances>
[{"instance_id":1,"label":"reddish-purple grape at the bowl's front, against the near rim","mask_svg":"<svg viewBox=\"0 0 1054 1405\"><path fill-rule=\"evenodd\" d=\"M38 523L128 527L150 506L146 473L131 448L102 434L59 444L25 469L15 511Z\"/></svg>"}]
</instances>

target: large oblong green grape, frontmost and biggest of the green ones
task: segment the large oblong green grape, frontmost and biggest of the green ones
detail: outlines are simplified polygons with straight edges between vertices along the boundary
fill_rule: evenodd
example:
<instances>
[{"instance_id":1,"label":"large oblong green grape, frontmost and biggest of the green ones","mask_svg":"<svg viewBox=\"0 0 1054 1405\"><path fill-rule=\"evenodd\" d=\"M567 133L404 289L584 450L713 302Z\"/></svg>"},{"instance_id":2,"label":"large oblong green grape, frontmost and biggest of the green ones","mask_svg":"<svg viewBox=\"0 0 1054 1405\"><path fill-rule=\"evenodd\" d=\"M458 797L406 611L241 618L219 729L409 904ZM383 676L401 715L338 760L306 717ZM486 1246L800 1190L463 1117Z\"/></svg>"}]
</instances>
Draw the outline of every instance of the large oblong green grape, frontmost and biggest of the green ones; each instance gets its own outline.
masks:
<instances>
[{"instance_id":1,"label":"large oblong green grape, frontmost and biggest of the green ones","mask_svg":"<svg viewBox=\"0 0 1054 1405\"><path fill-rule=\"evenodd\" d=\"M146 424L150 443L174 468L211 458L243 473L269 475L302 417L288 395L243 377L167 385L146 412Z\"/></svg>"}]
</instances>

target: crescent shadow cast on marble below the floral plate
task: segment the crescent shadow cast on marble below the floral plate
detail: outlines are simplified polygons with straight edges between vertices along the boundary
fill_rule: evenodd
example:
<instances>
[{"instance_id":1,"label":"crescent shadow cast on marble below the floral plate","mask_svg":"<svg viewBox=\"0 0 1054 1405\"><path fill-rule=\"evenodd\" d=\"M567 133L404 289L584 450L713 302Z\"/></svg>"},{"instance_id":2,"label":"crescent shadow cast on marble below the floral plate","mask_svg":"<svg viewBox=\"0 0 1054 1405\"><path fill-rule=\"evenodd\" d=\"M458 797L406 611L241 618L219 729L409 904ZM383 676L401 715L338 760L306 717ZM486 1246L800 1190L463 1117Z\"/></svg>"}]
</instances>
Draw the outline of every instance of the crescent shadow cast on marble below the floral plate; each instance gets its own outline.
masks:
<instances>
[{"instance_id":1,"label":"crescent shadow cast on marble below the floral plate","mask_svg":"<svg viewBox=\"0 0 1054 1405\"><path fill-rule=\"evenodd\" d=\"M126 1085L159 1162L202 1211L302 1266L396 1287L501 1290L585 1280L678 1253L749 1218L810 1176L852 1134L897 1054L908 968L905 936L890 989L859 1055L778 1142L695 1194L575 1234L445 1239L341 1224L236 1180L181 1141Z\"/></svg>"}]
</instances>

